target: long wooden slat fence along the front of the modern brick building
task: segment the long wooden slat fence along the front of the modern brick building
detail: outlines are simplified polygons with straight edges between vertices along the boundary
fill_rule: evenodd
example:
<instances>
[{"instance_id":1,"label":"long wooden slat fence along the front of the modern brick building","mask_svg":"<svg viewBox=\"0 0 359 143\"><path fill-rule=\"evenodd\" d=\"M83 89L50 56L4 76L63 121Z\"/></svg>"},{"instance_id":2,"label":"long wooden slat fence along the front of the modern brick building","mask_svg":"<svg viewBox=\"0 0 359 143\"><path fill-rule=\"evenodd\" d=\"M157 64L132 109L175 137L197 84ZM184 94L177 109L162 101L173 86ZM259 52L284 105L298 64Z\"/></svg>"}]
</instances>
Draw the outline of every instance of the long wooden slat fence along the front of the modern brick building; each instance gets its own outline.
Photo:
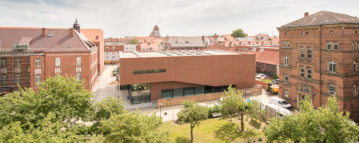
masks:
<instances>
[{"instance_id":1,"label":"long wooden slat fence along the front of the modern brick building","mask_svg":"<svg viewBox=\"0 0 359 143\"><path fill-rule=\"evenodd\" d=\"M237 90L237 92L242 92L243 95L258 95L258 94L262 94L262 88L256 87L251 89L241 89L241 90ZM157 100L157 103L162 103L162 106L165 107L172 105L180 105L182 103L182 100L192 100L195 102L218 100L224 95L225 95L224 92L200 94L200 95L176 97L169 99L159 99Z\"/></svg>"}]
</instances>

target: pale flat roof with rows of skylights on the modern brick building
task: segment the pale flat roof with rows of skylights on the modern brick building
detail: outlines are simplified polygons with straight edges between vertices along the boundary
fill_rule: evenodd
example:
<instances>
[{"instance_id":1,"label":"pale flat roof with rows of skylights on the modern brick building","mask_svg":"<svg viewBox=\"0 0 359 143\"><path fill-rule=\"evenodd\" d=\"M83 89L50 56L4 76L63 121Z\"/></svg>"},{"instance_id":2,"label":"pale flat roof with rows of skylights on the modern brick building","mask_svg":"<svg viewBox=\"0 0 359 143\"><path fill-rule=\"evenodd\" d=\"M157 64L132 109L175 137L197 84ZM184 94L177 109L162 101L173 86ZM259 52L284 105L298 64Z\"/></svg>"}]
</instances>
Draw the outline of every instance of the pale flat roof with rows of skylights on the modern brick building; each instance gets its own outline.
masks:
<instances>
[{"instance_id":1,"label":"pale flat roof with rows of skylights on the modern brick building","mask_svg":"<svg viewBox=\"0 0 359 143\"><path fill-rule=\"evenodd\" d=\"M224 50L171 50L171 51L122 51L120 58L145 58L145 57L181 57L181 56L210 56L210 55L235 55L248 54Z\"/></svg>"}]
</instances>

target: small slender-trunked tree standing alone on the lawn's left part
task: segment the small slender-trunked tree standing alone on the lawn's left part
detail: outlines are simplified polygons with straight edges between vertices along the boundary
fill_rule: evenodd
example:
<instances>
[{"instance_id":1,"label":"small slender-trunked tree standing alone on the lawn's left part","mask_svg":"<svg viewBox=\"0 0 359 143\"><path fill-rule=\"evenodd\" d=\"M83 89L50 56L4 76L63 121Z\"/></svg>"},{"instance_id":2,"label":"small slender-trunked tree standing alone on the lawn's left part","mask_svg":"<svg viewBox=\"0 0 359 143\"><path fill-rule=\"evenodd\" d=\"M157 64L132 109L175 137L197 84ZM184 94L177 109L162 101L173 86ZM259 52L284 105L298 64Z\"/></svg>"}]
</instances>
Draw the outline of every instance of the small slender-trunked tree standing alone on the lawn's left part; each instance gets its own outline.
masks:
<instances>
[{"instance_id":1,"label":"small slender-trunked tree standing alone on the lawn's left part","mask_svg":"<svg viewBox=\"0 0 359 143\"><path fill-rule=\"evenodd\" d=\"M179 122L188 122L191 124L191 141L193 142L193 128L201 124L202 120L208 119L209 109L207 106L201 106L190 100L182 101L183 108L177 113Z\"/></svg>"}]
</instances>

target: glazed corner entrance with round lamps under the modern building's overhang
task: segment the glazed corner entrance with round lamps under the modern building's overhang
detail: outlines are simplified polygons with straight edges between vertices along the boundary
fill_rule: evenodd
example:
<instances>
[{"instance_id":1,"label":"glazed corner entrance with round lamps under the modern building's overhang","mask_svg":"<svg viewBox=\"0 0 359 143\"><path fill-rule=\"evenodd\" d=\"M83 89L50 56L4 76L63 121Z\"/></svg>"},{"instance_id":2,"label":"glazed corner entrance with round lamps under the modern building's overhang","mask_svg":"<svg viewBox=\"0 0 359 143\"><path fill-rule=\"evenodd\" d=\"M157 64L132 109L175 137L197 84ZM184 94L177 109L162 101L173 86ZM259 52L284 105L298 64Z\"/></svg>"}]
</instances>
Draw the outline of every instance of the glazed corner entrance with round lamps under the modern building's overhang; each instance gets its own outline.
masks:
<instances>
[{"instance_id":1,"label":"glazed corner entrance with round lamps under the modern building's overhang","mask_svg":"<svg viewBox=\"0 0 359 143\"><path fill-rule=\"evenodd\" d=\"M151 101L151 83L132 84L129 89L131 104Z\"/></svg>"}]
</instances>

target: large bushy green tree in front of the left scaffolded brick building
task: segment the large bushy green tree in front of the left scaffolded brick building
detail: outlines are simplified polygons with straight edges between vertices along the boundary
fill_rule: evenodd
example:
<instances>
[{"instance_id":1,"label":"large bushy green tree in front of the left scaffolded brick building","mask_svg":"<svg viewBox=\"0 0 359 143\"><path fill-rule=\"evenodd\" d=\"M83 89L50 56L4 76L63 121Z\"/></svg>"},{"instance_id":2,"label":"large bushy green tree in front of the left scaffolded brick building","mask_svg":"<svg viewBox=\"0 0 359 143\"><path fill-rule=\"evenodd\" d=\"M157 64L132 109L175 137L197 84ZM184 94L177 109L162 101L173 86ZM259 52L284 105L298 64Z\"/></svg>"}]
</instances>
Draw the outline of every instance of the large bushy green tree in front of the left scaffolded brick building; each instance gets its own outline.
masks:
<instances>
[{"instance_id":1,"label":"large bushy green tree in front of the left scaffolded brick building","mask_svg":"<svg viewBox=\"0 0 359 143\"><path fill-rule=\"evenodd\" d=\"M84 82L76 77L48 77L37 86L37 92L24 88L0 97L0 128L16 121L37 128L49 113L55 114L52 123L89 120L94 113L93 95L82 85Z\"/></svg>"}]
</instances>

